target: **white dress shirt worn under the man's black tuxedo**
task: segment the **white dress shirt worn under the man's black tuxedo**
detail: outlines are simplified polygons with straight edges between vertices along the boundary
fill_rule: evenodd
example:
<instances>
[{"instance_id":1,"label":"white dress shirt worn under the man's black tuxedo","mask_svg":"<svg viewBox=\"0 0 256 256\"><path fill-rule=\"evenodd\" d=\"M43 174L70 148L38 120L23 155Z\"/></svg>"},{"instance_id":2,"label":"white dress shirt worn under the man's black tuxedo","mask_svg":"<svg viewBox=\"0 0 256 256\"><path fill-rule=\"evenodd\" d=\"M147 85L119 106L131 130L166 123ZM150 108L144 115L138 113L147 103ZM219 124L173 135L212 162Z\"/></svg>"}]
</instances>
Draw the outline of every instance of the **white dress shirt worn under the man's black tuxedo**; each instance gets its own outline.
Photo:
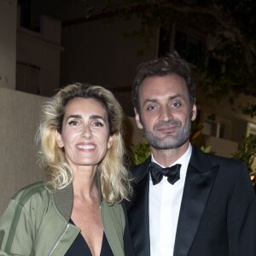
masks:
<instances>
[{"instance_id":1,"label":"white dress shirt worn under the man's black tuxedo","mask_svg":"<svg viewBox=\"0 0 256 256\"><path fill-rule=\"evenodd\" d=\"M149 235L151 256L172 256L177 230L177 219L183 197L185 177L189 165L192 147L172 164L181 164L180 179L173 185L163 177L160 183L153 185L149 180ZM153 154L151 155L154 160ZM158 163L157 163L158 164ZM164 166L162 166L164 167Z\"/></svg>"}]
</instances>

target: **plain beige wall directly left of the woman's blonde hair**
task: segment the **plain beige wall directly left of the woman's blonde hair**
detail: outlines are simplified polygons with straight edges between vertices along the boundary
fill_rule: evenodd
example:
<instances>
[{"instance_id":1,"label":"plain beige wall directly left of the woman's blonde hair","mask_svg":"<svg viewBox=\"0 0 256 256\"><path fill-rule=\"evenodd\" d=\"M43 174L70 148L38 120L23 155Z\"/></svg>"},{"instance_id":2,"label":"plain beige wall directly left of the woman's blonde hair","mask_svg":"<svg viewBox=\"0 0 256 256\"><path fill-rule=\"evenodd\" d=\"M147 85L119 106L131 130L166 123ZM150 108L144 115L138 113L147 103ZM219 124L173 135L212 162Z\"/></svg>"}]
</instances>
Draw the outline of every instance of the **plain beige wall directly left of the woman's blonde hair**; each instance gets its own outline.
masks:
<instances>
[{"instance_id":1,"label":"plain beige wall directly left of the woman's blonde hair","mask_svg":"<svg viewBox=\"0 0 256 256\"><path fill-rule=\"evenodd\" d=\"M42 179L34 137L44 97L0 88L0 215L11 195Z\"/></svg>"}]
</instances>

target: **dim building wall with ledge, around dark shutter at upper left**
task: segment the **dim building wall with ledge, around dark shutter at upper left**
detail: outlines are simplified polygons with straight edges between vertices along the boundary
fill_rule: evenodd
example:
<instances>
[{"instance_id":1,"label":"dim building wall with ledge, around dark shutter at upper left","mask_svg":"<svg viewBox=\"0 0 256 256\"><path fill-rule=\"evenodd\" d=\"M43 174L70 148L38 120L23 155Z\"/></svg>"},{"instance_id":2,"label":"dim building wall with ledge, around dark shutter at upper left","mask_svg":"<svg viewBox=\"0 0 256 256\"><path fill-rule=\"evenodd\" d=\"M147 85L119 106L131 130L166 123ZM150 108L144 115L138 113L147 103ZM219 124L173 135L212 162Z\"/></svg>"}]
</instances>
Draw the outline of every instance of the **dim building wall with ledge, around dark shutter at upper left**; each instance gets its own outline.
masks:
<instances>
[{"instance_id":1,"label":"dim building wall with ledge, around dark shutter at upper left","mask_svg":"<svg viewBox=\"0 0 256 256\"><path fill-rule=\"evenodd\" d=\"M42 16L41 32L18 26L17 61L34 65L39 72L39 94L51 95L60 86L61 22Z\"/></svg>"}]
</instances>

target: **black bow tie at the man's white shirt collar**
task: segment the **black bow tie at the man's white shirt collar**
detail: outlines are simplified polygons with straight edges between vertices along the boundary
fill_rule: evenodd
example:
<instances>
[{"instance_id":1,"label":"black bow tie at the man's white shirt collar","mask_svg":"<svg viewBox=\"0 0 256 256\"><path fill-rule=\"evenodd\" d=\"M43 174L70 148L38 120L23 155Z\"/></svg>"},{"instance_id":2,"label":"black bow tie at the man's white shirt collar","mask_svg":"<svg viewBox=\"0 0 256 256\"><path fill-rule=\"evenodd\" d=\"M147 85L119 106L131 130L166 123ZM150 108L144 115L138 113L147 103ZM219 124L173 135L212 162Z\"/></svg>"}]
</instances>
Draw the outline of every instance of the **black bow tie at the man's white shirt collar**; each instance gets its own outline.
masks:
<instances>
[{"instance_id":1,"label":"black bow tie at the man's white shirt collar","mask_svg":"<svg viewBox=\"0 0 256 256\"><path fill-rule=\"evenodd\" d=\"M158 164L151 162L149 165L149 170L152 178L153 185L160 183L163 176L168 177L167 180L172 185L179 180L179 171L180 171L180 164L175 166L162 168Z\"/></svg>"}]
</instances>

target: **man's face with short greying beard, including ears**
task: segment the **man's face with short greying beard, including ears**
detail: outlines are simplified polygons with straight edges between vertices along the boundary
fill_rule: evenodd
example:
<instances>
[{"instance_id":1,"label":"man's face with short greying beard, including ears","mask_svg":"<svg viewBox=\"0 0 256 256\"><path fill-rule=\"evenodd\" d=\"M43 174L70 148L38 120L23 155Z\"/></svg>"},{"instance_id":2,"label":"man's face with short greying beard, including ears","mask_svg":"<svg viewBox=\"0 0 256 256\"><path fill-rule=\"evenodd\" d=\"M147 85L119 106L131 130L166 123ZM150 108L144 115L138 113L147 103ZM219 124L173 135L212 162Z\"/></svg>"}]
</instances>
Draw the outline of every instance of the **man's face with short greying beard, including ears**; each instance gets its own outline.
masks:
<instances>
[{"instance_id":1,"label":"man's face with short greying beard, including ears","mask_svg":"<svg viewBox=\"0 0 256 256\"><path fill-rule=\"evenodd\" d=\"M137 126L143 129L151 147L179 148L189 142L191 109L185 81L176 74L145 79L139 89L140 114L135 110Z\"/></svg>"}]
</instances>

